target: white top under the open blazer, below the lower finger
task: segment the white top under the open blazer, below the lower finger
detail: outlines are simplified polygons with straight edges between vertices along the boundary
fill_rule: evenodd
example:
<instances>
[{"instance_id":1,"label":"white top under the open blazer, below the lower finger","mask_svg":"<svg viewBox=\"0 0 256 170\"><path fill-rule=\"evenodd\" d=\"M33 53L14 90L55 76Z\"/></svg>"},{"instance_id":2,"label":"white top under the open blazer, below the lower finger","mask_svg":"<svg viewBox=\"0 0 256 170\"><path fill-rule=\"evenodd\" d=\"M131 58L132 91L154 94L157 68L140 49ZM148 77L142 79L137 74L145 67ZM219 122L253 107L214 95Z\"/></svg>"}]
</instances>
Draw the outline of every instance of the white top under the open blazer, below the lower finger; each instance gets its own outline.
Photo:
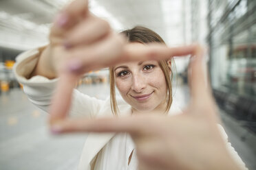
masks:
<instances>
[{"instance_id":1,"label":"white top under the open blazer, below the lower finger","mask_svg":"<svg viewBox=\"0 0 256 170\"><path fill-rule=\"evenodd\" d=\"M138 160L134 149L135 145L129 134L116 134L98 153L94 170L136 170ZM130 162L129 156L131 156Z\"/></svg>"}]
</instances>

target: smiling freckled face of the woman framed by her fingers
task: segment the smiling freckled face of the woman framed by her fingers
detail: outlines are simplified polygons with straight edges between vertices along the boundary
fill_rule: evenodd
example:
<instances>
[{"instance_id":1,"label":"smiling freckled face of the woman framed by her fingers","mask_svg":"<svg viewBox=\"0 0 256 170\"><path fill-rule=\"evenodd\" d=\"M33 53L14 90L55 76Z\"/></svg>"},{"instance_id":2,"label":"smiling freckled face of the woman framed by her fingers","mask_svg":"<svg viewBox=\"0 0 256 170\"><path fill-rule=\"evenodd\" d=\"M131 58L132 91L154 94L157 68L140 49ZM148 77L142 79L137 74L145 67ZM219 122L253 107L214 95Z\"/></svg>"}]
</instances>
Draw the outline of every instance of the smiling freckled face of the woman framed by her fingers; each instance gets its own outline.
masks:
<instances>
[{"instance_id":1,"label":"smiling freckled face of the woman framed by her fingers","mask_svg":"<svg viewBox=\"0 0 256 170\"><path fill-rule=\"evenodd\" d=\"M116 86L133 110L143 112L165 108L167 84L155 60L125 62L114 66Z\"/></svg>"}]
</instances>

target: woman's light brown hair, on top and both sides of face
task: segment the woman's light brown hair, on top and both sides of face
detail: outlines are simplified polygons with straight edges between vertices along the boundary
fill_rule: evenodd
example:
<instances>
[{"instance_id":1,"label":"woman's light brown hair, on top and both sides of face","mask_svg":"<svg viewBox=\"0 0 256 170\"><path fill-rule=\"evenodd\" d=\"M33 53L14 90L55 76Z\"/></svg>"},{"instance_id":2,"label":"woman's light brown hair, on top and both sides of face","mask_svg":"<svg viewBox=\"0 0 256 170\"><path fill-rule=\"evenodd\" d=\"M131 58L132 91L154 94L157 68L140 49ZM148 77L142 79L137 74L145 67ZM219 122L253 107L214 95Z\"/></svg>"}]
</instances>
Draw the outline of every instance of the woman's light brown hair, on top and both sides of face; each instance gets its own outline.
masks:
<instances>
[{"instance_id":1,"label":"woman's light brown hair, on top and both sides of face","mask_svg":"<svg viewBox=\"0 0 256 170\"><path fill-rule=\"evenodd\" d=\"M143 44L147 44L149 42L160 42L164 43L164 40L156 34L156 32L153 32L151 29L148 29L146 27L134 27L133 29L127 29L121 34L124 34L129 42L140 42ZM174 61L172 58L171 65L174 64ZM165 108L165 113L169 112L171 108L171 103L173 101L172 98L172 86L171 86L171 80L173 79L173 71L171 67L168 66L167 61L170 60L160 60L158 63L160 65L160 68L162 69L162 72L164 73L164 78L167 83L167 107ZM171 73L171 77L170 77ZM111 102L111 110L112 113L115 116L118 116L118 105L116 102L116 88L115 88L115 76L114 76L114 68L109 68L109 84L110 84L110 102Z\"/></svg>"}]
</instances>

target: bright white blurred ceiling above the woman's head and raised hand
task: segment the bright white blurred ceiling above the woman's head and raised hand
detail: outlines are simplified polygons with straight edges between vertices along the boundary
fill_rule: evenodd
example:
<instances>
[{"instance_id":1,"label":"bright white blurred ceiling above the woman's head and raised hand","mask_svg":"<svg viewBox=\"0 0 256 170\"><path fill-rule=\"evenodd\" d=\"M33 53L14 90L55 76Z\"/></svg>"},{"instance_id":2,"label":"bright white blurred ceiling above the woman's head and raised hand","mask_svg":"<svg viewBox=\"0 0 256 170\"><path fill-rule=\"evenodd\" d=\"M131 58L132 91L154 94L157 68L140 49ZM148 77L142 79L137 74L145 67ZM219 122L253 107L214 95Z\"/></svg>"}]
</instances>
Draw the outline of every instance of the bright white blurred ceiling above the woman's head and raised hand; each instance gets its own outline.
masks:
<instances>
[{"instance_id":1,"label":"bright white blurred ceiling above the woman's head and raised hand","mask_svg":"<svg viewBox=\"0 0 256 170\"><path fill-rule=\"evenodd\" d=\"M1 0L0 46L30 49L47 42L56 12L69 0ZM143 25L160 34L169 45L189 36L191 0L91 0L92 12L117 31Z\"/></svg>"}]
</instances>

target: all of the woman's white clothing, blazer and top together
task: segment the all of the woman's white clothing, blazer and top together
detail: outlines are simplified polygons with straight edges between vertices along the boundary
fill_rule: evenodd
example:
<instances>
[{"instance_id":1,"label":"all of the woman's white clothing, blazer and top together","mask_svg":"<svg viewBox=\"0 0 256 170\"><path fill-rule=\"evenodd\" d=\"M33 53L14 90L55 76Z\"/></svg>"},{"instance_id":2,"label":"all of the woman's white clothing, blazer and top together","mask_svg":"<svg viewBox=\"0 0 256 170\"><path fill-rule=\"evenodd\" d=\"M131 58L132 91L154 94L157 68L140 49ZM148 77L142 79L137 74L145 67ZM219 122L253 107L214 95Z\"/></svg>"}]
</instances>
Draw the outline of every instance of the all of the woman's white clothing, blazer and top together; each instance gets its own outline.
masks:
<instances>
[{"instance_id":1,"label":"all of the woman's white clothing, blazer and top together","mask_svg":"<svg viewBox=\"0 0 256 170\"><path fill-rule=\"evenodd\" d=\"M23 90L32 104L47 112L52 99L52 93L56 86L57 79L48 80L46 77L35 76L28 80L28 75L33 71L36 63L39 60L39 50L33 49L26 51L17 57L17 62L14 65L14 74L17 80L23 84ZM123 99L117 98L118 108L121 116L127 112L131 113L131 106ZM86 112L85 112L86 110ZM171 105L169 115L173 112L178 112L179 109L175 106L175 101ZM99 100L95 97L89 97L78 90L74 89L72 98L72 108L70 115L74 117L113 117L111 114L110 99ZM223 127L220 126L220 132L226 141L226 147L234 160L240 165L241 169L246 169L244 162L241 160L235 149L228 143L228 136ZM134 144L126 134L95 134L89 133L83 147L81 160L78 165L79 170L122 170L136 169L136 153L131 157L130 165L128 166L129 156ZM95 167L96 166L96 167ZM122 167L123 166L123 167Z\"/></svg>"}]
</instances>

